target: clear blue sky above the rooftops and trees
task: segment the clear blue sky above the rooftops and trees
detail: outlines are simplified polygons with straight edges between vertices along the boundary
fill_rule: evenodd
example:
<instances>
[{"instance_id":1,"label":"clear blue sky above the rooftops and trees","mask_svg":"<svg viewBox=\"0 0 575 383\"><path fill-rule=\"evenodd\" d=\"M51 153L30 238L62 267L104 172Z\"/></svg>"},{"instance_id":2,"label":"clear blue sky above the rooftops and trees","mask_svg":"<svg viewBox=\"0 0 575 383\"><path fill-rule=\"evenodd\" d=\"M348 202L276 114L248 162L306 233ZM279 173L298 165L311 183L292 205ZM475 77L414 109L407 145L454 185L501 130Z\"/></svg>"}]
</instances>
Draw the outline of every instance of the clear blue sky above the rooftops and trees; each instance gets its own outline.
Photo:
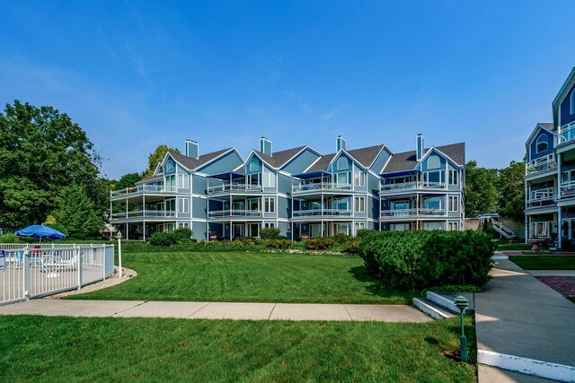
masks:
<instances>
[{"instance_id":1,"label":"clear blue sky above the rooftops and trees","mask_svg":"<svg viewBox=\"0 0 575 383\"><path fill-rule=\"evenodd\" d=\"M158 144L520 160L575 65L572 1L0 2L0 103L78 122L111 178Z\"/></svg>"}]
</instances>

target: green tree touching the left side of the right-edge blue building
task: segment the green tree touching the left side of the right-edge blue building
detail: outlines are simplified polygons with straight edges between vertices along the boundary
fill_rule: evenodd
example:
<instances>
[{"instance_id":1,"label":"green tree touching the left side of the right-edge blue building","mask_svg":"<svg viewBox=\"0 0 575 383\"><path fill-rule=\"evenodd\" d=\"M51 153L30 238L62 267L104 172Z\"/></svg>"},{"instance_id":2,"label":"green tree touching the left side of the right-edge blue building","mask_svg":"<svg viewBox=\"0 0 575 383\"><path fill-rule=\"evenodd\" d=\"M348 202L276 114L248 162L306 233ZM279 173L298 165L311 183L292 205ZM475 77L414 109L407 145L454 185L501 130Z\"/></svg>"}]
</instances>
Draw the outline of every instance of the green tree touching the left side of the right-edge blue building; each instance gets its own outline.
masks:
<instances>
[{"instance_id":1,"label":"green tree touching the left side of the right-edge blue building","mask_svg":"<svg viewBox=\"0 0 575 383\"><path fill-rule=\"evenodd\" d=\"M500 214L523 222L525 209L525 163L511 161L499 172Z\"/></svg>"}]
</instances>

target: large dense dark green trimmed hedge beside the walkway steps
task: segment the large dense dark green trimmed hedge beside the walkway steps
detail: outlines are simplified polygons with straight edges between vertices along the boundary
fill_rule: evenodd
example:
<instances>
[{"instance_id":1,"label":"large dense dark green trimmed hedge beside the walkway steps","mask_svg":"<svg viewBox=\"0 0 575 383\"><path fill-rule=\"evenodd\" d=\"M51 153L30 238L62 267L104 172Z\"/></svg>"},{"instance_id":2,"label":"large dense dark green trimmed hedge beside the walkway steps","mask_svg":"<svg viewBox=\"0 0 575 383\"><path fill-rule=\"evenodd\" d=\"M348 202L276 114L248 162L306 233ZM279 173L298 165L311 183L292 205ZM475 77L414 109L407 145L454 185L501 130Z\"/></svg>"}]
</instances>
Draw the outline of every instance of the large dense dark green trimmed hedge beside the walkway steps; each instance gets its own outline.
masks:
<instances>
[{"instance_id":1,"label":"large dense dark green trimmed hedge beside the walkway steps","mask_svg":"<svg viewBox=\"0 0 575 383\"><path fill-rule=\"evenodd\" d=\"M481 231L380 231L359 243L370 274L394 289L446 284L482 286L495 245Z\"/></svg>"}]
</instances>

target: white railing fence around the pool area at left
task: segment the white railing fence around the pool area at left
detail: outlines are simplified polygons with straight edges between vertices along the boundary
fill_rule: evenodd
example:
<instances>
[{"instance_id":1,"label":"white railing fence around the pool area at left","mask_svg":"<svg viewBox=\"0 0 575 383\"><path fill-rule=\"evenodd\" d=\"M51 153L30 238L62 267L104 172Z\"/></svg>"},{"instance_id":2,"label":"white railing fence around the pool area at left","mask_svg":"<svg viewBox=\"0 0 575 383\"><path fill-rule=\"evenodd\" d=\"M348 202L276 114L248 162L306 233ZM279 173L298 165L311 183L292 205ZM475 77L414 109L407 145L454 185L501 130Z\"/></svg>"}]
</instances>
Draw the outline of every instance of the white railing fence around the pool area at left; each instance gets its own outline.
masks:
<instances>
[{"instance_id":1,"label":"white railing fence around the pool area at left","mask_svg":"<svg viewBox=\"0 0 575 383\"><path fill-rule=\"evenodd\" d=\"M0 244L0 305L79 290L113 273L113 245Z\"/></svg>"}]
</instances>

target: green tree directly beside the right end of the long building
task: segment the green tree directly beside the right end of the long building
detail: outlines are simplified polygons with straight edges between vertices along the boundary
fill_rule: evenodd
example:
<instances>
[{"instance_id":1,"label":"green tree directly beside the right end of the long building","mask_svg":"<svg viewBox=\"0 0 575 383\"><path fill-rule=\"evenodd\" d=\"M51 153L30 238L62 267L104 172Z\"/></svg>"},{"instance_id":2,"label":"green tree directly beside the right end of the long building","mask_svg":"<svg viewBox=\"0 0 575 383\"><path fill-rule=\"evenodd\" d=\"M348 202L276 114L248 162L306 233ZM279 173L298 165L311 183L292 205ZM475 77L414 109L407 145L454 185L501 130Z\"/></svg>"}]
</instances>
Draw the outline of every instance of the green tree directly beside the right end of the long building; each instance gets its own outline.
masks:
<instances>
[{"instance_id":1,"label":"green tree directly beside the right end of the long building","mask_svg":"<svg viewBox=\"0 0 575 383\"><path fill-rule=\"evenodd\" d=\"M476 161L465 164L465 215L496 213L499 193L496 169L479 168Z\"/></svg>"}]
</instances>

